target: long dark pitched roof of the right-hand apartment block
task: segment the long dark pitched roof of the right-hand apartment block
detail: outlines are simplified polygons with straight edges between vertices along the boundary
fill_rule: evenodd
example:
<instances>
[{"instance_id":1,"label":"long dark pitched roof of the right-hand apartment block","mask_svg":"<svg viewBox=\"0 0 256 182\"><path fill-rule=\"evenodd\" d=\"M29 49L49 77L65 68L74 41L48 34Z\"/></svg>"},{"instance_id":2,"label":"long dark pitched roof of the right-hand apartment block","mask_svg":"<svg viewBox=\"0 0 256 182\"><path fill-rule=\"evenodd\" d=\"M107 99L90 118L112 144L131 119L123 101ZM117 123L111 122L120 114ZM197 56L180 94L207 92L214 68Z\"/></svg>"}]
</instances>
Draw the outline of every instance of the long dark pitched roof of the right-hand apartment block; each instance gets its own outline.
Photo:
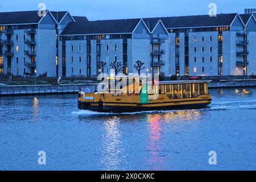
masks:
<instances>
[{"instance_id":1,"label":"long dark pitched roof of the right-hand apartment block","mask_svg":"<svg viewBox=\"0 0 256 182\"><path fill-rule=\"evenodd\" d=\"M211 26L229 26L232 24L237 13L217 14L217 16L209 15L193 15L193 16L172 16L159 18L143 18L148 26L162 20L166 28L187 28L187 27L211 27ZM154 27L153 27L154 28Z\"/></svg>"}]
</instances>

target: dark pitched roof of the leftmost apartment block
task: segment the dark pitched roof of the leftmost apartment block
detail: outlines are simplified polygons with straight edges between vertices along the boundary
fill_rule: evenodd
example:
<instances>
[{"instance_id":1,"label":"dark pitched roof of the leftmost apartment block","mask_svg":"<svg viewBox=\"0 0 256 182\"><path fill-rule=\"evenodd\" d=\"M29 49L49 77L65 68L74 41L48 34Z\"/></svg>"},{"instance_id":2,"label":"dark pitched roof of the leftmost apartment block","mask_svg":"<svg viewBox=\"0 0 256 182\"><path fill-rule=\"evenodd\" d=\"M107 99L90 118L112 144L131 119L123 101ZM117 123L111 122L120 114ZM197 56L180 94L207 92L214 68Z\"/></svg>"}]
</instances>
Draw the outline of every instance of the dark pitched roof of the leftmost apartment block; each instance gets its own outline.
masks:
<instances>
[{"instance_id":1,"label":"dark pitched roof of the leftmost apartment block","mask_svg":"<svg viewBox=\"0 0 256 182\"><path fill-rule=\"evenodd\" d=\"M0 24L36 24L39 23L41 19L42 17L38 16L38 11L15 11L0 13Z\"/></svg>"}]
</instances>

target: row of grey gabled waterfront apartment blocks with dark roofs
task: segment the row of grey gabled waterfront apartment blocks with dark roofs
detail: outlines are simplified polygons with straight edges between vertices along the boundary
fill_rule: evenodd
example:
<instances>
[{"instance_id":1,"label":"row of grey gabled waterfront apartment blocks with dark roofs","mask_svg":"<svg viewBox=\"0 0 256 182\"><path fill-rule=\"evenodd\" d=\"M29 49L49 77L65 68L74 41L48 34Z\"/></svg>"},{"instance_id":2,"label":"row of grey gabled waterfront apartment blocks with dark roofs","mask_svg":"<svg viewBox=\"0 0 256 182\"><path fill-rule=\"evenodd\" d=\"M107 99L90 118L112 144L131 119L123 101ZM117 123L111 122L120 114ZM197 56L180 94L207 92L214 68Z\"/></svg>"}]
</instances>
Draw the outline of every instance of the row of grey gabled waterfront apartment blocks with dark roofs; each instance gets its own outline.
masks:
<instances>
[{"instance_id":1,"label":"row of grey gabled waterfront apartment blocks with dark roofs","mask_svg":"<svg viewBox=\"0 0 256 182\"><path fill-rule=\"evenodd\" d=\"M0 74L95 77L115 60L123 73L136 73L140 60L142 72L164 77L256 74L250 13L89 21L68 11L22 11L0 13L0 30Z\"/></svg>"}]
</instances>

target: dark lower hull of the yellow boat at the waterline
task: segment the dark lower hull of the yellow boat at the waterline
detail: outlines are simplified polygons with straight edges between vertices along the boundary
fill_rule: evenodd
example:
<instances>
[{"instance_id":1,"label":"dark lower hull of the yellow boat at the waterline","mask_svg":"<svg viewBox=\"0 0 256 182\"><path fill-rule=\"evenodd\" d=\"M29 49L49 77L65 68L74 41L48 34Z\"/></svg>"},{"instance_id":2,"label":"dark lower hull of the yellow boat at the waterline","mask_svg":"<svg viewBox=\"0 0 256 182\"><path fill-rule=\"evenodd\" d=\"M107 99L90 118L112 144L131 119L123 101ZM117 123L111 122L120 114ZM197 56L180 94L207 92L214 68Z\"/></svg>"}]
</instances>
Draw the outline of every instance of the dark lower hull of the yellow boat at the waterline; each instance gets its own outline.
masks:
<instances>
[{"instance_id":1,"label":"dark lower hull of the yellow boat at the waterline","mask_svg":"<svg viewBox=\"0 0 256 182\"><path fill-rule=\"evenodd\" d=\"M139 111L154 111L154 110L182 110L182 109L201 109L207 107L210 104L208 102L196 103L196 104L179 104L179 105L167 105L167 106L150 106L150 105L138 105L138 106L118 106L118 105L104 105L103 103L94 102L81 102L78 101L78 108L80 110L92 110L100 113L133 113Z\"/></svg>"}]
</instances>

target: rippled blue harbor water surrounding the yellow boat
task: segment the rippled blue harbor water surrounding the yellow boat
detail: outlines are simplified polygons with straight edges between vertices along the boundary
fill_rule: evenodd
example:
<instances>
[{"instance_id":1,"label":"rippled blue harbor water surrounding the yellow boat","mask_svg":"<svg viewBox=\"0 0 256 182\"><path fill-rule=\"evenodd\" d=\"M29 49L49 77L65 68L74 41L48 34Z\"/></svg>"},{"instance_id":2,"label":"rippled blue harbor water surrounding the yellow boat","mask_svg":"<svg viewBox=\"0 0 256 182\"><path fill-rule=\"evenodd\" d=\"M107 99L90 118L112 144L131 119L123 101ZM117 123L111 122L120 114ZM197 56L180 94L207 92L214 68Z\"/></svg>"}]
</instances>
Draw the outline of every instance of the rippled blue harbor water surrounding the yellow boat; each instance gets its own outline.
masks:
<instances>
[{"instance_id":1,"label":"rippled blue harbor water surrounding the yellow boat","mask_svg":"<svg viewBox=\"0 0 256 182\"><path fill-rule=\"evenodd\" d=\"M122 114L80 111L76 94L0 97L0 170L255 170L256 88L246 90L210 89L199 110Z\"/></svg>"}]
</instances>

